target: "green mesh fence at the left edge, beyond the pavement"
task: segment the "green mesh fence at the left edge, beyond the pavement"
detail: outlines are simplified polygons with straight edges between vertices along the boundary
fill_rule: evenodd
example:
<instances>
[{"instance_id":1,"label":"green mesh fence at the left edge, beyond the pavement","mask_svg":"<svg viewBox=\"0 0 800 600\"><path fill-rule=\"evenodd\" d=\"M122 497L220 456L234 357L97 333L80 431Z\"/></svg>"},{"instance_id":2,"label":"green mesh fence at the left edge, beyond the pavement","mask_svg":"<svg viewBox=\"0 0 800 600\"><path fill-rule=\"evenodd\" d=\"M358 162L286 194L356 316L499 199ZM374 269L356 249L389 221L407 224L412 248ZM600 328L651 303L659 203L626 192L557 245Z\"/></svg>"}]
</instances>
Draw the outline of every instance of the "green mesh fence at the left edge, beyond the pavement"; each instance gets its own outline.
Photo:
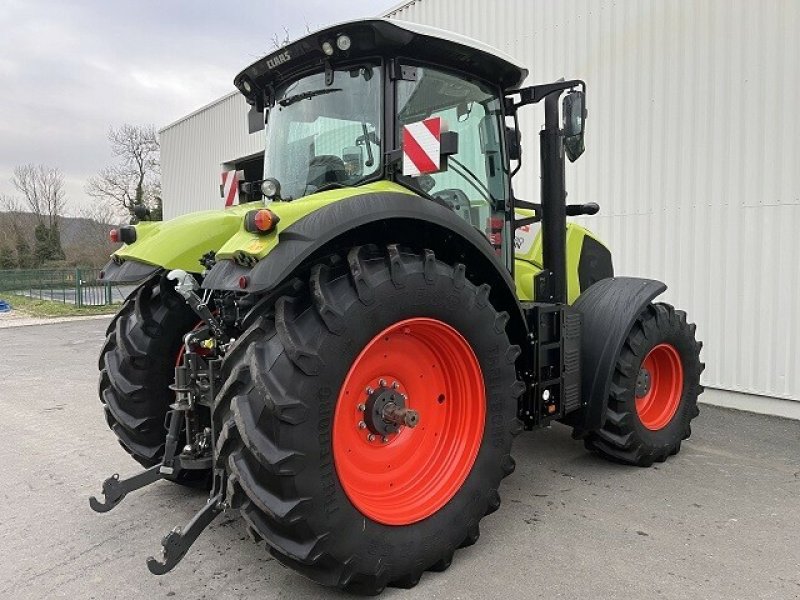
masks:
<instances>
[{"instance_id":1,"label":"green mesh fence at the left edge, beyond the pavement","mask_svg":"<svg viewBox=\"0 0 800 600\"><path fill-rule=\"evenodd\" d=\"M15 269L0 271L0 293L8 292L75 306L103 306L125 300L130 286L100 280L100 269Z\"/></svg>"}]
</instances>

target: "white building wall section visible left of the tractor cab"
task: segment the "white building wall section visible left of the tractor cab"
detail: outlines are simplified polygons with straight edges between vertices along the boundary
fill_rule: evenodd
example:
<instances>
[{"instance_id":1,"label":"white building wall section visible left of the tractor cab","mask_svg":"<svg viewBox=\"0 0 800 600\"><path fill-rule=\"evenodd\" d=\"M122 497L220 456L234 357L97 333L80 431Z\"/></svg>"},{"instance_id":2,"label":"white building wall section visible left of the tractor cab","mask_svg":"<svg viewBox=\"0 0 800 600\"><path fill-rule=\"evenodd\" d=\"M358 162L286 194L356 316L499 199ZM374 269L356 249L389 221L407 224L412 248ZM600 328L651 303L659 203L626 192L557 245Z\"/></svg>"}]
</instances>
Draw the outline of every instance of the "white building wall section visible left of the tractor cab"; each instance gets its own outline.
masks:
<instances>
[{"instance_id":1,"label":"white building wall section visible left of the tractor cab","mask_svg":"<svg viewBox=\"0 0 800 600\"><path fill-rule=\"evenodd\" d=\"M159 132L164 218L223 206L223 163L264 151L264 133L247 132L248 108L233 92Z\"/></svg>"}]
</instances>

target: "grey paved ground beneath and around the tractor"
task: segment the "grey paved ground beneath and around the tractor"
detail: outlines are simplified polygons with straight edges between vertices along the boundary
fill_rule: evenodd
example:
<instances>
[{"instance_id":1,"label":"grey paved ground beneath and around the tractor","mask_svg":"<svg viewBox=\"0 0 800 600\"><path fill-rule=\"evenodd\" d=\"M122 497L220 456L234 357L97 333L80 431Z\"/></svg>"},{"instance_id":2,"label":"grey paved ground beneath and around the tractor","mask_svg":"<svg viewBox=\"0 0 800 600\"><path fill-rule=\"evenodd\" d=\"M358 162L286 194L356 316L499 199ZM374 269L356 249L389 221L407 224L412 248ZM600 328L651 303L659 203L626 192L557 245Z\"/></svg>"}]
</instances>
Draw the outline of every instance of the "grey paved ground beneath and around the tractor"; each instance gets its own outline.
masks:
<instances>
[{"instance_id":1,"label":"grey paved ground beneath and around the tractor","mask_svg":"<svg viewBox=\"0 0 800 600\"><path fill-rule=\"evenodd\" d=\"M215 523L172 573L144 564L203 495L160 483L96 515L87 497L134 464L95 398L105 321L0 331L0 598L344 597ZM800 422L704 407L652 469L526 434L501 510L445 573L384 598L798 598Z\"/></svg>"}]
</instances>

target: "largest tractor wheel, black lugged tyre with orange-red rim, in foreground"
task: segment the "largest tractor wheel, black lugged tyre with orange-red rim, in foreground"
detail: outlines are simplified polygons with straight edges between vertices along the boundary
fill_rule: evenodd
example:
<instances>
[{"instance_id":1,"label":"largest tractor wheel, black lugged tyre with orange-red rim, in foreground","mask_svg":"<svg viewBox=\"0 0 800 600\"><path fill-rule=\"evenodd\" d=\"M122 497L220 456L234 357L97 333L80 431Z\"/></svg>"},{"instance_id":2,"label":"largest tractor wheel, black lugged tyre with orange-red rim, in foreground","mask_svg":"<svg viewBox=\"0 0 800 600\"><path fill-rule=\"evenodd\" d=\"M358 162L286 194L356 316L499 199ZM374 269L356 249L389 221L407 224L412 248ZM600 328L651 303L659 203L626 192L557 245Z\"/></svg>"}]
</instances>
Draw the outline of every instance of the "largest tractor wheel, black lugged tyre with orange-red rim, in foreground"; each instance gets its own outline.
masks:
<instances>
[{"instance_id":1,"label":"largest tractor wheel, black lugged tyre with orange-red rim, in foreground","mask_svg":"<svg viewBox=\"0 0 800 600\"><path fill-rule=\"evenodd\" d=\"M508 315L464 265L396 246L354 248L299 289L225 358L213 419L228 499L319 583L411 587L478 539L514 469L524 386ZM419 424L374 429L370 411L400 395Z\"/></svg>"}]
</instances>

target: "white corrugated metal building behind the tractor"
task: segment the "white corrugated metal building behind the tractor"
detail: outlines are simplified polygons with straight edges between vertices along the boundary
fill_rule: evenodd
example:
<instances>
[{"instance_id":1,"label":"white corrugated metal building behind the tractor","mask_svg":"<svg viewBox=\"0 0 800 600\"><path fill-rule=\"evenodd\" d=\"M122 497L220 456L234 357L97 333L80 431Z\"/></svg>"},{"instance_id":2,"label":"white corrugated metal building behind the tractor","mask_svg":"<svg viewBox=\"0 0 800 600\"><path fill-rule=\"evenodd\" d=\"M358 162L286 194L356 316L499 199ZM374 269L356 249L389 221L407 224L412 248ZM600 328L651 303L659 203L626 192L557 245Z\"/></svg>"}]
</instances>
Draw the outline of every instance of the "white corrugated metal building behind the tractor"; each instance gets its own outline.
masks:
<instances>
[{"instance_id":1,"label":"white corrugated metal building behind the tractor","mask_svg":"<svg viewBox=\"0 0 800 600\"><path fill-rule=\"evenodd\" d=\"M413 0L386 16L496 46L527 83L586 80L587 151L567 189L600 204L584 221L617 273L668 283L705 341L707 386L800 401L800 3ZM523 112L515 179L532 200L538 110ZM221 206L221 167L253 168L263 133L245 114L231 94L161 131L167 217Z\"/></svg>"}]
</instances>

